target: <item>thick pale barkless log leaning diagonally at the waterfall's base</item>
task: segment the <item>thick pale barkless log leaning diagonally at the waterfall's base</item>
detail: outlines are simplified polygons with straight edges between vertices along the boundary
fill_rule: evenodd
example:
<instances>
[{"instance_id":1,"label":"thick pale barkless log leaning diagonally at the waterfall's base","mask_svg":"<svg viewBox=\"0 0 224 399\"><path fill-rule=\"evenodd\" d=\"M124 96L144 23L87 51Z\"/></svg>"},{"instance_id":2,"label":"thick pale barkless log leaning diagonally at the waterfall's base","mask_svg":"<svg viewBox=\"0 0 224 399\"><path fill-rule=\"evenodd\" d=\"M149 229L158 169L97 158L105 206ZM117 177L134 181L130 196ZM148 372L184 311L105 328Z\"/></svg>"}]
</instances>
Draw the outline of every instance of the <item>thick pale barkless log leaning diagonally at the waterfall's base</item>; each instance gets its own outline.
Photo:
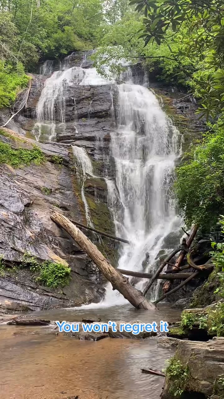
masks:
<instances>
[{"instance_id":1,"label":"thick pale barkless log leaning diagonally at the waterfall's base","mask_svg":"<svg viewBox=\"0 0 224 399\"><path fill-rule=\"evenodd\" d=\"M61 213L53 212L51 213L51 219L67 231L77 242L79 247L92 259L106 279L111 282L112 287L118 290L135 308L145 310L154 310L156 308L154 304L144 298L141 291L132 286L127 277L123 276L110 265L96 245L94 245L78 227L67 219L67 217L61 215Z\"/></svg>"}]
</instances>

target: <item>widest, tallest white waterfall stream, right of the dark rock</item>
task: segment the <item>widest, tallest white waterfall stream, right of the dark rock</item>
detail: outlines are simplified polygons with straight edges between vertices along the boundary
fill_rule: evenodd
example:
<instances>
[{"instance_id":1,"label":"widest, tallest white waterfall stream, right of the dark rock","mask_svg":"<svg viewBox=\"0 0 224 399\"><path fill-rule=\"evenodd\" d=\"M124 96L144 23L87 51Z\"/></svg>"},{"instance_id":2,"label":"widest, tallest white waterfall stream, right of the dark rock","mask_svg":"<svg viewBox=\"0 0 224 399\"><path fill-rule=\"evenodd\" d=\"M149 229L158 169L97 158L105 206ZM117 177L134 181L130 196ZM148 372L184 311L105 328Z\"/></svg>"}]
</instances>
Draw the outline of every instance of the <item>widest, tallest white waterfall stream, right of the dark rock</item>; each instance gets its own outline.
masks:
<instances>
[{"instance_id":1,"label":"widest, tallest white waterfall stream, right of the dark rock","mask_svg":"<svg viewBox=\"0 0 224 399\"><path fill-rule=\"evenodd\" d=\"M112 209L116 235L131 243L123 244L118 267L141 271L145 263L151 271L164 239L180 228L171 186L181 136L146 87L123 83L118 90L111 155L120 204ZM137 287L142 290L145 283L141 280ZM154 284L151 299L158 288Z\"/></svg>"}]
</instances>

